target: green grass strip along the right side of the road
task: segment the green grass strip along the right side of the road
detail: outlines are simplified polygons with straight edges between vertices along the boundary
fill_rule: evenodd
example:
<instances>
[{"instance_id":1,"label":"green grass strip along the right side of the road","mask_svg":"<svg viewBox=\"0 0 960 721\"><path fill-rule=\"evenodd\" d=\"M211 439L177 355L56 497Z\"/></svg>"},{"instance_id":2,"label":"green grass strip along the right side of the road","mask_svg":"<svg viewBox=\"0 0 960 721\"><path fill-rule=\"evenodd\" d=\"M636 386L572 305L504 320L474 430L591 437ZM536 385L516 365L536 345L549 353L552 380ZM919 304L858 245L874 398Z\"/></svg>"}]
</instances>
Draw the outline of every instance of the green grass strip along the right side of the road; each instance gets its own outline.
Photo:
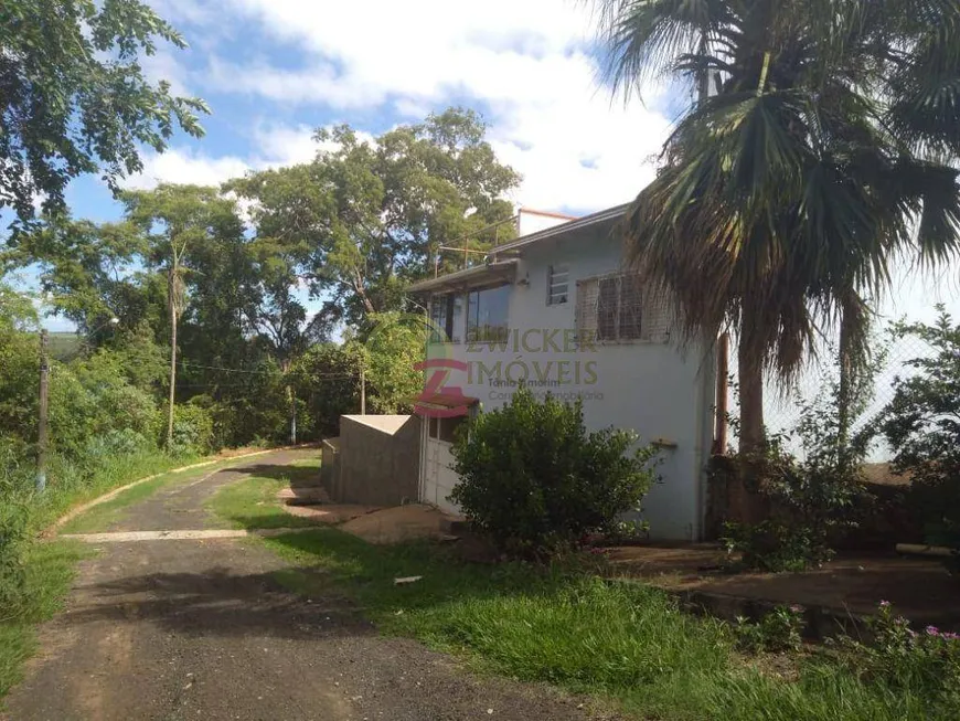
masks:
<instances>
[{"instance_id":1,"label":"green grass strip along the right side of the road","mask_svg":"<svg viewBox=\"0 0 960 721\"><path fill-rule=\"evenodd\" d=\"M263 503L270 494L244 495ZM239 503L238 494L231 501L237 522L265 512ZM690 616L662 591L600 579L589 566L467 564L449 548L374 547L330 528L259 542L290 561L277 579L295 592L346 596L383 633L417 638L487 671L600 695L638 718L960 718L956 709L931 708L918 689L861 680L823 655L787 659L796 678L778 678L762 659L735 650L727 624ZM409 575L423 580L394 584Z\"/></svg>"}]
</instances>

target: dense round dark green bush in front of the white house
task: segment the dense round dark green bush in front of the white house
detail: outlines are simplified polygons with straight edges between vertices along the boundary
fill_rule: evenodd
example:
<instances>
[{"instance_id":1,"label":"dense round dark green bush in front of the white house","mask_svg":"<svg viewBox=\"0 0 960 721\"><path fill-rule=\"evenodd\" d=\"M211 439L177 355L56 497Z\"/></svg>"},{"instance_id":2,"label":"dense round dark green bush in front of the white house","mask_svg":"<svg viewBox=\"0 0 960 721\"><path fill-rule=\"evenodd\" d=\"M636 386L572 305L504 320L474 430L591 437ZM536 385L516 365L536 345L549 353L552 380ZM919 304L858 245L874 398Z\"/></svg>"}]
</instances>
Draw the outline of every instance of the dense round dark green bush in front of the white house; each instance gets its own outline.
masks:
<instances>
[{"instance_id":1,"label":"dense round dark green bush in front of the white house","mask_svg":"<svg viewBox=\"0 0 960 721\"><path fill-rule=\"evenodd\" d=\"M609 532L653 483L655 449L633 448L629 431L587 433L579 401L538 402L520 389L467 428L454 444L450 499L510 553L548 555Z\"/></svg>"}]
</instances>

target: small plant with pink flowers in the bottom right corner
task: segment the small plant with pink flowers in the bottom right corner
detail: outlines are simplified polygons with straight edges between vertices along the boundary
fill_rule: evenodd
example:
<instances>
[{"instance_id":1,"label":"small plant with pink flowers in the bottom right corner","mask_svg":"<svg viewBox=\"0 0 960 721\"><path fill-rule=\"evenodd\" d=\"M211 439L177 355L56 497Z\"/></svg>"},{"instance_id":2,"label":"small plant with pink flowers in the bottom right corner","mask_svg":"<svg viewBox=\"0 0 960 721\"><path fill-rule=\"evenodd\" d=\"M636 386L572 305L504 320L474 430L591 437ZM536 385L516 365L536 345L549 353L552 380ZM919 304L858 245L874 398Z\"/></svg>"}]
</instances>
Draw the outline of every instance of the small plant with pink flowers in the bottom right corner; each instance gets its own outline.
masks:
<instances>
[{"instance_id":1,"label":"small plant with pink flowers in the bottom right corner","mask_svg":"<svg viewBox=\"0 0 960 721\"><path fill-rule=\"evenodd\" d=\"M896 689L922 689L931 700L950 706L960 701L960 635L935 626L914 630L887 601L881 601L868 624L872 644L839 639L844 664L857 676Z\"/></svg>"}]
</instances>

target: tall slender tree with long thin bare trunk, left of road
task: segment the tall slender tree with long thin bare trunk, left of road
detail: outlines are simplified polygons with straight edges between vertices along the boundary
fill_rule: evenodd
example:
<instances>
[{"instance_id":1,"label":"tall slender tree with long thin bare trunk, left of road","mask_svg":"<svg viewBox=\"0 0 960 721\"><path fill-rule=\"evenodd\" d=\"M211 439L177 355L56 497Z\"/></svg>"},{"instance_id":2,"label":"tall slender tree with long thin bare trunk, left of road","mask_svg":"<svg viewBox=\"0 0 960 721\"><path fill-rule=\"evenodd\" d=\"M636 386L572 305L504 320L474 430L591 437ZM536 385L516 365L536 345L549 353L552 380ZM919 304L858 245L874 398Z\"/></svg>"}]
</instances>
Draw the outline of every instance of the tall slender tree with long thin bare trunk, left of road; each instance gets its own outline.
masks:
<instances>
[{"instance_id":1,"label":"tall slender tree with long thin bare trunk, left of road","mask_svg":"<svg viewBox=\"0 0 960 721\"><path fill-rule=\"evenodd\" d=\"M170 448L177 391L177 325L186 306L188 254L218 238L241 238L243 224L236 203L222 198L215 188L161 184L150 191L128 191L121 198L129 222L149 240L149 262L162 268L167 277L170 321L167 447Z\"/></svg>"}]
</instances>

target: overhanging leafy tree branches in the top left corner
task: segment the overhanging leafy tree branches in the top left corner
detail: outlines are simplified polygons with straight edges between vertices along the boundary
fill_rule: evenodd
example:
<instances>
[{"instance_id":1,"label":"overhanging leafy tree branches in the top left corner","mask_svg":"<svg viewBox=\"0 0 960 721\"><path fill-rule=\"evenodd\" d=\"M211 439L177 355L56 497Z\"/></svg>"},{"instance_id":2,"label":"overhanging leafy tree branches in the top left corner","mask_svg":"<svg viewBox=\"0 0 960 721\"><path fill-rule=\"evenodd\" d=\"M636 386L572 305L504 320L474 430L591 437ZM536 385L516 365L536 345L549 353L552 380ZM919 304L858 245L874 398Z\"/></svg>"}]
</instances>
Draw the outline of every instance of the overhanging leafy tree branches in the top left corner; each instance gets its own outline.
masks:
<instances>
[{"instance_id":1,"label":"overhanging leafy tree branches in the top left corner","mask_svg":"<svg viewBox=\"0 0 960 721\"><path fill-rule=\"evenodd\" d=\"M139 56L158 40L186 46L139 0L3 3L0 209L12 206L20 223L38 198L61 211L70 180L92 172L116 191L118 178L142 169L139 145L163 151L175 126L203 134L202 100L143 77Z\"/></svg>"}]
</instances>

